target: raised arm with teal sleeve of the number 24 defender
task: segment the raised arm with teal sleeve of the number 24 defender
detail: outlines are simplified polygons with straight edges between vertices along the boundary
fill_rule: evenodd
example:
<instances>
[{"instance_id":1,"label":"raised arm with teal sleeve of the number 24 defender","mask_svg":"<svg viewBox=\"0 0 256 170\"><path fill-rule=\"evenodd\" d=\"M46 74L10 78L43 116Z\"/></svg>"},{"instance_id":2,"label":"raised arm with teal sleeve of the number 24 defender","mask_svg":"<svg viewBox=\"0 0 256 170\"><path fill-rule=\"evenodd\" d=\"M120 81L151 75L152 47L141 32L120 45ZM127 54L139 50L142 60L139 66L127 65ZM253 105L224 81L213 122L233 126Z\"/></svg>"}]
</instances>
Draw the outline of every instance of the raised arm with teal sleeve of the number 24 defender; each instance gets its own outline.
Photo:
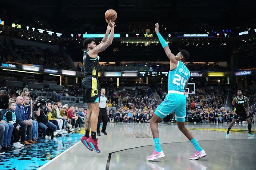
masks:
<instances>
[{"instance_id":1,"label":"raised arm with teal sleeve of the number 24 defender","mask_svg":"<svg viewBox=\"0 0 256 170\"><path fill-rule=\"evenodd\" d=\"M159 33L159 25L158 25L158 23L156 23L155 26L156 26L155 27L156 35L158 36L159 41L160 41L160 43L162 45L162 48L164 48L167 57L170 59L170 61L172 63L174 63L174 64L178 63L178 61L175 58L175 55L172 54L172 52L171 52L171 50L170 50L170 48L168 46L168 43L165 41L165 39Z\"/></svg>"}]
</instances>

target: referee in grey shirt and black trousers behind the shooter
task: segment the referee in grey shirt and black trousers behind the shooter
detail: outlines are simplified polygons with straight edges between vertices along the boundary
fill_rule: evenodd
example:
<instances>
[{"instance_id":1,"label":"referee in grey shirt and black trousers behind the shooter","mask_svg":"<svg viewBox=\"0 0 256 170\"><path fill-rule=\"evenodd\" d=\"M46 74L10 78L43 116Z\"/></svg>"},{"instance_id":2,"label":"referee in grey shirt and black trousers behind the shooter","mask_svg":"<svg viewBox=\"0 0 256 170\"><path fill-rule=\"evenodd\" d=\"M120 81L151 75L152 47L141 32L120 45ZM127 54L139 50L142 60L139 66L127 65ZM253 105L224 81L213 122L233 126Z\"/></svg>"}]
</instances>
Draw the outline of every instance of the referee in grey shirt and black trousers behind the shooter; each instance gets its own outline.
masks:
<instances>
[{"instance_id":1,"label":"referee in grey shirt and black trousers behind the shooter","mask_svg":"<svg viewBox=\"0 0 256 170\"><path fill-rule=\"evenodd\" d=\"M98 117L98 125L97 125L97 136L100 136L100 122L103 121L103 126L101 132L104 135L107 135L106 133L106 124L108 123L108 115L109 115L109 107L107 104L107 98L105 96L106 90L105 88L102 88L100 90L100 113Z\"/></svg>"}]
</instances>

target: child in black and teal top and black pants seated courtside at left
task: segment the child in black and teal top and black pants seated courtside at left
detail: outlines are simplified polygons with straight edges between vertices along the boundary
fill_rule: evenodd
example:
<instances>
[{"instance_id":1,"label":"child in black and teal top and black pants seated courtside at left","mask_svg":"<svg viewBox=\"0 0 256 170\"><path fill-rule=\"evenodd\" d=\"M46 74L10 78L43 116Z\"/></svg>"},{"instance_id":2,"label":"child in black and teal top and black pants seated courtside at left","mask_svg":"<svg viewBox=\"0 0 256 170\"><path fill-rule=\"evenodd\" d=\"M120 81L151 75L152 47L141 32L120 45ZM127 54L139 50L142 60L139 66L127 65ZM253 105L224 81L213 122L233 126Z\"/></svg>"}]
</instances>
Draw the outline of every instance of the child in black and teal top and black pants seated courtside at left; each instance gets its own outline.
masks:
<instances>
[{"instance_id":1,"label":"child in black and teal top and black pants seated courtside at left","mask_svg":"<svg viewBox=\"0 0 256 170\"><path fill-rule=\"evenodd\" d=\"M13 124L14 128L12 131L12 146L15 148L21 148L24 146L22 143L19 142L22 131L20 129L20 125L16 123L16 115L14 110L16 109L16 103L15 102L10 102L8 103L8 109L5 111L3 115L3 121L7 121L10 124Z\"/></svg>"}]
</instances>

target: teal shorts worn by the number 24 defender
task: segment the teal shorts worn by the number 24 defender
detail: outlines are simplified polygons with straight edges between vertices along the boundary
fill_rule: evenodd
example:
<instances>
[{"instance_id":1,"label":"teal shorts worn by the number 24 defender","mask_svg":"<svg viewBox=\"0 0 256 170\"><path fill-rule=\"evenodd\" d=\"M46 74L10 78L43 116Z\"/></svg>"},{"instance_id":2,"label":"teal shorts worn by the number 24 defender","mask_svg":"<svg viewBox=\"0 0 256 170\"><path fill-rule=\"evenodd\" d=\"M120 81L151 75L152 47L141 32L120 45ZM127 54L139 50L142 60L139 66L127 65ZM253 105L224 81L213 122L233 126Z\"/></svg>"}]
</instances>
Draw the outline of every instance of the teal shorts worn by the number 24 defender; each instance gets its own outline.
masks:
<instances>
[{"instance_id":1,"label":"teal shorts worn by the number 24 defender","mask_svg":"<svg viewBox=\"0 0 256 170\"><path fill-rule=\"evenodd\" d=\"M168 93L163 102L157 107L155 114L164 118L175 111L176 120L184 122L186 117L187 98L184 94Z\"/></svg>"}]
</instances>

